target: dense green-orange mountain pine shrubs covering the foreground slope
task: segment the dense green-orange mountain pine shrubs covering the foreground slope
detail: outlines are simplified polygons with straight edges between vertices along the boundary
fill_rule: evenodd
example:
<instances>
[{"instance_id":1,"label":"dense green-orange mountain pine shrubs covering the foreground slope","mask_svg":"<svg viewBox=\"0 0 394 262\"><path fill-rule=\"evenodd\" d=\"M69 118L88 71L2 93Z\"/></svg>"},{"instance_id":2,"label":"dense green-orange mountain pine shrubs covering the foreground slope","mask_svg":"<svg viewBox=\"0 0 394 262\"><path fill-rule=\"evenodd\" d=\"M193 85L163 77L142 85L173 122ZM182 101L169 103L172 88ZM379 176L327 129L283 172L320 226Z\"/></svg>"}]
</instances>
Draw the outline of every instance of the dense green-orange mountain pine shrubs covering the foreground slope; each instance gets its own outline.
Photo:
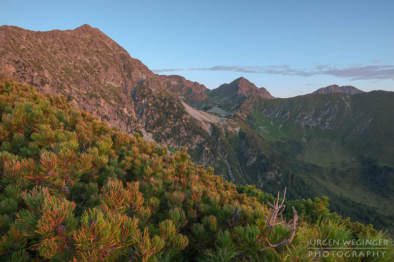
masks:
<instances>
[{"instance_id":1,"label":"dense green-orange mountain pine shrubs covering the foreground slope","mask_svg":"<svg viewBox=\"0 0 394 262\"><path fill-rule=\"evenodd\" d=\"M186 148L167 153L4 77L0 113L2 261L316 261L310 238L387 238L327 198L237 187Z\"/></svg>"}]
</instances>

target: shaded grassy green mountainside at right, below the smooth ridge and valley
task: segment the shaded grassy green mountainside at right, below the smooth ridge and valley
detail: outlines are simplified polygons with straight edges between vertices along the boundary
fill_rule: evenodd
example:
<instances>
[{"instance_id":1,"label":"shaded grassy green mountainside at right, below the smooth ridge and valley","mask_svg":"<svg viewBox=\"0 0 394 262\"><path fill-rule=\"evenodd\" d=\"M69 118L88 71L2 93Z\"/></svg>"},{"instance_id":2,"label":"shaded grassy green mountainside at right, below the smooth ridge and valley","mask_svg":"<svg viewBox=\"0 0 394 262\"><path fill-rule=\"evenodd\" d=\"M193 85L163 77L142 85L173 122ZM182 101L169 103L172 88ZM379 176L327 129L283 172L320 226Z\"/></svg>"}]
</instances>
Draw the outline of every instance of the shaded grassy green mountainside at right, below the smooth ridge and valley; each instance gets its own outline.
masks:
<instances>
[{"instance_id":1,"label":"shaded grassy green mountainside at right, below the smooth ridge and valley","mask_svg":"<svg viewBox=\"0 0 394 262\"><path fill-rule=\"evenodd\" d=\"M285 182L293 179L301 187L309 187L308 192L300 188L298 196L323 192L331 197L333 210L345 215L354 215L357 209L378 212L360 212L358 218L391 224L393 217L387 217L394 215L389 208L394 201L391 101L394 93L385 91L253 98L241 105L241 112L248 114L239 122L245 122L241 130L249 136L257 133L269 145L271 165L287 173ZM280 179L277 182L281 184ZM354 210L344 208L344 203L354 205ZM376 221L381 214L386 217Z\"/></svg>"}]
</instances>

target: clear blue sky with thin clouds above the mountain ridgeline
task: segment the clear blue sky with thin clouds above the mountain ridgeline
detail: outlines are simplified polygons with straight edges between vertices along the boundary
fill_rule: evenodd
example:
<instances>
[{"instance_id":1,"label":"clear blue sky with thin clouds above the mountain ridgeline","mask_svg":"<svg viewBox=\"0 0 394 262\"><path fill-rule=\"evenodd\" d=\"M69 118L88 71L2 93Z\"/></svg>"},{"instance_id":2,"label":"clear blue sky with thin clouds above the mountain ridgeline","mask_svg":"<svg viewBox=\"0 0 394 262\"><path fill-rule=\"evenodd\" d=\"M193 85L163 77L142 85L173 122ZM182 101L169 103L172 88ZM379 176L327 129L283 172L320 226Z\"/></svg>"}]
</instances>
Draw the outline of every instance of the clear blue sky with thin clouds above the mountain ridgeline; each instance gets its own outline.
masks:
<instances>
[{"instance_id":1,"label":"clear blue sky with thin clouds above the mountain ridgeline","mask_svg":"<svg viewBox=\"0 0 394 262\"><path fill-rule=\"evenodd\" d=\"M273 96L332 84L394 91L394 1L9 1L1 25L89 24L155 73L212 89L241 76Z\"/></svg>"}]
</instances>

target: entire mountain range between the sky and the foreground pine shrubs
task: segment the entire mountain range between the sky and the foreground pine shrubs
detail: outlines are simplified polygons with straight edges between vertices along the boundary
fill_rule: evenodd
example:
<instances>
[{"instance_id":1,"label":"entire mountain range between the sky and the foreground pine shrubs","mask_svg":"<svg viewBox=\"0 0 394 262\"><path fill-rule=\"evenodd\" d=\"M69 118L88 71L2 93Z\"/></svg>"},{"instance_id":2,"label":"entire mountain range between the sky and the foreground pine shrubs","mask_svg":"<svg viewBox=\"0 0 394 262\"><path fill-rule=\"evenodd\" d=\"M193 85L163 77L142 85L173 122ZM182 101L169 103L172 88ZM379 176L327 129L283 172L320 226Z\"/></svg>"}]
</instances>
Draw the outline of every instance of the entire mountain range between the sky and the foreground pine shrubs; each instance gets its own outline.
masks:
<instances>
[{"instance_id":1,"label":"entire mountain range between the sky and the foreground pine shrubs","mask_svg":"<svg viewBox=\"0 0 394 262\"><path fill-rule=\"evenodd\" d=\"M168 150L188 147L215 174L394 228L394 92L332 85L274 98L241 77L210 90L154 74L99 29L0 27L0 73Z\"/></svg>"}]
</instances>

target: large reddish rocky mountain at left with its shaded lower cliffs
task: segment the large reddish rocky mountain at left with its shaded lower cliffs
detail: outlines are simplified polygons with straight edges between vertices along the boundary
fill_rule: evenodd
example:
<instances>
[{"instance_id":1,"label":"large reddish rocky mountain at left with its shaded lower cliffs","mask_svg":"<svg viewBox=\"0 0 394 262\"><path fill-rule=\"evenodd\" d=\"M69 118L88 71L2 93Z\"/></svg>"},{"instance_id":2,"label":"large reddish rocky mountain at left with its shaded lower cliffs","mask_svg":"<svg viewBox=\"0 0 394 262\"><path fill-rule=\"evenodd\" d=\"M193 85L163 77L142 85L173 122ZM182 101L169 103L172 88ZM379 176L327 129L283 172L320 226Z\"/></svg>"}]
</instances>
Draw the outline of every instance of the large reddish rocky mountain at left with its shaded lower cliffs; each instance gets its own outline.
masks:
<instances>
[{"instance_id":1,"label":"large reddish rocky mountain at left with its shaded lower cliffs","mask_svg":"<svg viewBox=\"0 0 394 262\"><path fill-rule=\"evenodd\" d=\"M36 32L2 26L0 64L0 73L40 92L64 95L72 105L121 130L140 133L170 150L188 146L192 155L197 150L198 163L214 166L230 179L209 134L211 124L226 121L193 117L173 93L193 105L206 98L206 88L182 77L154 74L99 29L83 25Z\"/></svg>"}]
</instances>

